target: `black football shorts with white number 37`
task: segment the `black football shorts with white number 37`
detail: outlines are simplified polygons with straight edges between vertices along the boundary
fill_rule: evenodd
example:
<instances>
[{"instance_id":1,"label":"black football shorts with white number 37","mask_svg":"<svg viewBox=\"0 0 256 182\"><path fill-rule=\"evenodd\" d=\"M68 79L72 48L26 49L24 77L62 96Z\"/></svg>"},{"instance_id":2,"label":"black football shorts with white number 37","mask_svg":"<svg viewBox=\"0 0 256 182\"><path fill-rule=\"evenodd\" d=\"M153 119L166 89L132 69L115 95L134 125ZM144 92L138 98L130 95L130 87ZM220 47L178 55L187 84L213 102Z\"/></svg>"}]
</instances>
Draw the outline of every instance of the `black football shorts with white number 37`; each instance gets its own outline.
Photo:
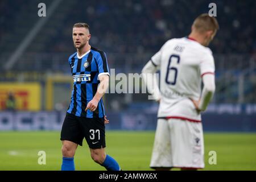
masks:
<instances>
[{"instance_id":1,"label":"black football shorts with white number 37","mask_svg":"<svg viewBox=\"0 0 256 182\"><path fill-rule=\"evenodd\" d=\"M77 117L67 113L61 129L60 140L69 140L82 146L84 138L92 149L106 147L104 118Z\"/></svg>"}]
</instances>

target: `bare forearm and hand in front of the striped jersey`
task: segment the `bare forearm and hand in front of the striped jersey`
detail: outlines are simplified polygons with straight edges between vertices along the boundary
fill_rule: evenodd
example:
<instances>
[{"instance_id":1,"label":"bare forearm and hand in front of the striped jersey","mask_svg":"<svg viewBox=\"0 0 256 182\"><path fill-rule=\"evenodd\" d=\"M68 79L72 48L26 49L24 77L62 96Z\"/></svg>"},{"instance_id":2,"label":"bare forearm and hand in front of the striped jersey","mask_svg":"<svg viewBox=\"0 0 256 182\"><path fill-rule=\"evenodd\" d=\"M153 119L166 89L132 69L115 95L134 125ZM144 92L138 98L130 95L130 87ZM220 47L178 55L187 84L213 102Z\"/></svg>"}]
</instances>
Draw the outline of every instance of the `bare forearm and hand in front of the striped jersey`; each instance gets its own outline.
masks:
<instances>
[{"instance_id":1,"label":"bare forearm and hand in front of the striped jersey","mask_svg":"<svg viewBox=\"0 0 256 182\"><path fill-rule=\"evenodd\" d=\"M100 85L98 86L93 99L87 104L85 111L88 109L90 111L95 111L98 106L98 102L101 100L102 96L104 96L109 87L109 75L100 75L98 78L100 80Z\"/></svg>"}]
</instances>

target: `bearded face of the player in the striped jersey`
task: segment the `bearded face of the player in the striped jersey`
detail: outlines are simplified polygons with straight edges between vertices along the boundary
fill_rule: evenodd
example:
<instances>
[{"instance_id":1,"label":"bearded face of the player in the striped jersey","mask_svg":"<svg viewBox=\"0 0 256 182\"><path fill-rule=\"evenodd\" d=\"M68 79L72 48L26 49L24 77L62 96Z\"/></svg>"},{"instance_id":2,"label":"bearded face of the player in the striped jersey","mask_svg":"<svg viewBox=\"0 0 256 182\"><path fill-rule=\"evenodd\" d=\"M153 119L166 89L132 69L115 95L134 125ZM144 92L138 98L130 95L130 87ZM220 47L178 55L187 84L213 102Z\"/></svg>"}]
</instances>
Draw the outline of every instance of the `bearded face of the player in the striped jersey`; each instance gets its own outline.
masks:
<instances>
[{"instance_id":1,"label":"bearded face of the player in the striped jersey","mask_svg":"<svg viewBox=\"0 0 256 182\"><path fill-rule=\"evenodd\" d=\"M74 27L73 28L73 43L75 48L81 49L86 44L89 43L90 33L87 28L84 27Z\"/></svg>"}]
</instances>

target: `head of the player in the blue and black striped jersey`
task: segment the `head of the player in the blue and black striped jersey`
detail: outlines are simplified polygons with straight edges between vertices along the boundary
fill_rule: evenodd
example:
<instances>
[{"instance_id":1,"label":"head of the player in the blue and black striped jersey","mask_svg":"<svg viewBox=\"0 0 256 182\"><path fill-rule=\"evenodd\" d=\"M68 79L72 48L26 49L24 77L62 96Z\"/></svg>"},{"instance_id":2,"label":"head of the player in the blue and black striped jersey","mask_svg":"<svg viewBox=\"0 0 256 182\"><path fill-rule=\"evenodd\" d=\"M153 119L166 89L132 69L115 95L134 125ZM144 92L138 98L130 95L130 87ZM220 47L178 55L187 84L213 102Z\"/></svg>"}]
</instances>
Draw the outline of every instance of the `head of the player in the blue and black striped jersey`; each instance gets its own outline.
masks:
<instances>
[{"instance_id":1,"label":"head of the player in the blue and black striped jersey","mask_svg":"<svg viewBox=\"0 0 256 182\"><path fill-rule=\"evenodd\" d=\"M73 26L73 43L75 48L82 49L89 44L90 40L90 31L89 25L86 23L75 23Z\"/></svg>"}]
</instances>

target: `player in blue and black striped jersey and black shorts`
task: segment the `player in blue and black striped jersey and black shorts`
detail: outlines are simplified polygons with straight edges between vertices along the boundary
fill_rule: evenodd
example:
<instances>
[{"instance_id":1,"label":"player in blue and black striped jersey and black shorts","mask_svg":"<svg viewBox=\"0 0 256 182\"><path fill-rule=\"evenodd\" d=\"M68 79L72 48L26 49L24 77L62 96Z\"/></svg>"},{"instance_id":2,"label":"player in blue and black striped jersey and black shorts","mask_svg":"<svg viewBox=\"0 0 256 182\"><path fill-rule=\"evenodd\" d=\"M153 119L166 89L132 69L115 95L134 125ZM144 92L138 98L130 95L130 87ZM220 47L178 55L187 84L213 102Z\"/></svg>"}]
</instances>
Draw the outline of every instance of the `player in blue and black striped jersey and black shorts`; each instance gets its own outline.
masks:
<instances>
[{"instance_id":1,"label":"player in blue and black striped jersey and black shorts","mask_svg":"<svg viewBox=\"0 0 256 182\"><path fill-rule=\"evenodd\" d=\"M89 26L73 26L77 52L68 59L73 77L71 103L61 129L63 163L61 170L75 170L74 156L85 138L94 162L110 171L119 171L118 163L105 152L105 117L102 96L108 89L109 68L103 51L89 44Z\"/></svg>"}]
</instances>

